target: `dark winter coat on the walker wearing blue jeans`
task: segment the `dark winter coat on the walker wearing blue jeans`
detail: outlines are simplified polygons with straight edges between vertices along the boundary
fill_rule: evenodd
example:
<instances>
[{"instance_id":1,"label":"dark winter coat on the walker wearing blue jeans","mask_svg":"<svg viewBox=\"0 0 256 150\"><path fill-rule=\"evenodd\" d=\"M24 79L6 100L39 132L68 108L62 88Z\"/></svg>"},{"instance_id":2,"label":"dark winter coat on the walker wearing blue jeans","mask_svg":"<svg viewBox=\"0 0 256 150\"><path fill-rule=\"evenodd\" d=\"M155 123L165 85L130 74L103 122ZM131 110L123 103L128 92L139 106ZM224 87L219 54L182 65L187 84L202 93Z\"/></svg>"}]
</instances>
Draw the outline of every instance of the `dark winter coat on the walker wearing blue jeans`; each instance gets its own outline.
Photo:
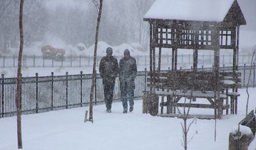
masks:
<instances>
[{"instance_id":1,"label":"dark winter coat on the walker wearing blue jeans","mask_svg":"<svg viewBox=\"0 0 256 150\"><path fill-rule=\"evenodd\" d=\"M137 64L133 57L121 59L119 62L120 90L134 90L137 75ZM125 87L125 82L127 87Z\"/></svg>"}]
</instances>

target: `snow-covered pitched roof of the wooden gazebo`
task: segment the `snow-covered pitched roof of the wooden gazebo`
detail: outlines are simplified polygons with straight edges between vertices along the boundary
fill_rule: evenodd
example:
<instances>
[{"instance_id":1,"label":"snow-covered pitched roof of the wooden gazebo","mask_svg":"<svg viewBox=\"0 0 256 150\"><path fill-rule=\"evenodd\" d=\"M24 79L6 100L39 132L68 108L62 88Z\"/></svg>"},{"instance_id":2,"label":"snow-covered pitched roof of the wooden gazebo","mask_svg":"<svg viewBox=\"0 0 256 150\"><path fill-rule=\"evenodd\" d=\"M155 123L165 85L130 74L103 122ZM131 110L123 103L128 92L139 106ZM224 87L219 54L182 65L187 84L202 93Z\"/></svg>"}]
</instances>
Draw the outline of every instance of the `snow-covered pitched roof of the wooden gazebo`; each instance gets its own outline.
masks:
<instances>
[{"instance_id":1,"label":"snow-covered pitched roof of the wooden gazebo","mask_svg":"<svg viewBox=\"0 0 256 150\"><path fill-rule=\"evenodd\" d=\"M216 21L228 20L246 24L236 0L156 0L145 14L144 21L186 20Z\"/></svg>"}]
</instances>

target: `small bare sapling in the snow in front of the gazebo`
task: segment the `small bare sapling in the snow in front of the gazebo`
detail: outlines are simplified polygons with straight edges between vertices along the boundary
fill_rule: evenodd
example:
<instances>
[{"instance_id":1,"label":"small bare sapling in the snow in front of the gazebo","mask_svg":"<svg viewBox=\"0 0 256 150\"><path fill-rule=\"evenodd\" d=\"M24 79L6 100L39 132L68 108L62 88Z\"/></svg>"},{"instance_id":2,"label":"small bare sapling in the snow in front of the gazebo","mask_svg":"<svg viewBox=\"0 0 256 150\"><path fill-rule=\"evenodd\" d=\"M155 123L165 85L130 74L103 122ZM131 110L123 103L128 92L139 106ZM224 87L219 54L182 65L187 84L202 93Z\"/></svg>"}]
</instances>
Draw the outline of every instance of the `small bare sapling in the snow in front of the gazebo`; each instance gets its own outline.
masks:
<instances>
[{"instance_id":1,"label":"small bare sapling in the snow in front of the gazebo","mask_svg":"<svg viewBox=\"0 0 256 150\"><path fill-rule=\"evenodd\" d=\"M189 99L189 104L191 104L192 102L192 99L190 98ZM186 98L185 98L185 104L186 104ZM181 118L183 120L183 123L180 123L181 124L181 127L182 127L182 133L183 133L183 141L181 141L182 143L182 146L184 148L184 150L187 150L188 149L188 143L192 140L192 138L197 134L197 130L196 130L196 133L188 140L188 132L189 132L189 129L191 127L191 125L193 123L196 123L196 120L197 118L194 118L191 123L188 124L188 119L189 119L189 110L190 110L190 107L188 107L188 110L185 109L185 107L183 107L183 113L181 113L180 109L177 107L178 109L178 113L180 113Z\"/></svg>"}]
</instances>

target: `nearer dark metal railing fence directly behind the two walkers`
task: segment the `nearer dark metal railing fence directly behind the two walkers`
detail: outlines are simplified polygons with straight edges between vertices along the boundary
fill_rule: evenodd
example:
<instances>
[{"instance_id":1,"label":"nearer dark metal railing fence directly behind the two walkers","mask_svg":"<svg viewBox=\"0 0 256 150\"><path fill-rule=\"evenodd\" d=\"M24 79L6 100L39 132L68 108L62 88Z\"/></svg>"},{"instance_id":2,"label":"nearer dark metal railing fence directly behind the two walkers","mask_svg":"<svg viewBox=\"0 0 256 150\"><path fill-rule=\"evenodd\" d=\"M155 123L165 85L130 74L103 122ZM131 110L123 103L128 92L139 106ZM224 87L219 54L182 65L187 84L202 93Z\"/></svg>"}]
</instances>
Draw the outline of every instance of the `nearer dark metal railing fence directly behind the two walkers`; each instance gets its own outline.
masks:
<instances>
[{"instance_id":1,"label":"nearer dark metal railing fence directly behind the two walkers","mask_svg":"<svg viewBox=\"0 0 256 150\"><path fill-rule=\"evenodd\" d=\"M211 71L213 68L199 68L198 71ZM232 71L232 67L221 67L221 71ZM242 87L255 87L255 65L239 66ZM71 109L89 105L92 74L77 74L64 76L22 77L20 107L22 114L48 112L51 110ZM147 90L147 70L137 72L134 99L141 99L142 91ZM16 78L0 78L0 118L16 115L15 93ZM114 102L120 101L119 78L115 80ZM93 104L104 104L103 85L97 74Z\"/></svg>"}]
</instances>

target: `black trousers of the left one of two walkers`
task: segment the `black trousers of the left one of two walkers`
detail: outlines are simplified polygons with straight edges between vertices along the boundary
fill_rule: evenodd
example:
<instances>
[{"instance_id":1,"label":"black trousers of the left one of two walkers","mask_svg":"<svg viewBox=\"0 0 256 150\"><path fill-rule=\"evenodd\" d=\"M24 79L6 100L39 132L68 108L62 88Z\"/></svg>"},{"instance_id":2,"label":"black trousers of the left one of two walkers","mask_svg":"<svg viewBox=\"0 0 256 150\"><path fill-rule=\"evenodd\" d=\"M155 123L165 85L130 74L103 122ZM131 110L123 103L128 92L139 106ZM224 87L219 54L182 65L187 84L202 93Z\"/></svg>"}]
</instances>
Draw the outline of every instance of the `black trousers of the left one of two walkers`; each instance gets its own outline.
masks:
<instances>
[{"instance_id":1,"label":"black trousers of the left one of two walkers","mask_svg":"<svg viewBox=\"0 0 256 150\"><path fill-rule=\"evenodd\" d=\"M106 103L106 108L111 109L115 82L105 81L103 86L104 86L104 101Z\"/></svg>"}]
</instances>

